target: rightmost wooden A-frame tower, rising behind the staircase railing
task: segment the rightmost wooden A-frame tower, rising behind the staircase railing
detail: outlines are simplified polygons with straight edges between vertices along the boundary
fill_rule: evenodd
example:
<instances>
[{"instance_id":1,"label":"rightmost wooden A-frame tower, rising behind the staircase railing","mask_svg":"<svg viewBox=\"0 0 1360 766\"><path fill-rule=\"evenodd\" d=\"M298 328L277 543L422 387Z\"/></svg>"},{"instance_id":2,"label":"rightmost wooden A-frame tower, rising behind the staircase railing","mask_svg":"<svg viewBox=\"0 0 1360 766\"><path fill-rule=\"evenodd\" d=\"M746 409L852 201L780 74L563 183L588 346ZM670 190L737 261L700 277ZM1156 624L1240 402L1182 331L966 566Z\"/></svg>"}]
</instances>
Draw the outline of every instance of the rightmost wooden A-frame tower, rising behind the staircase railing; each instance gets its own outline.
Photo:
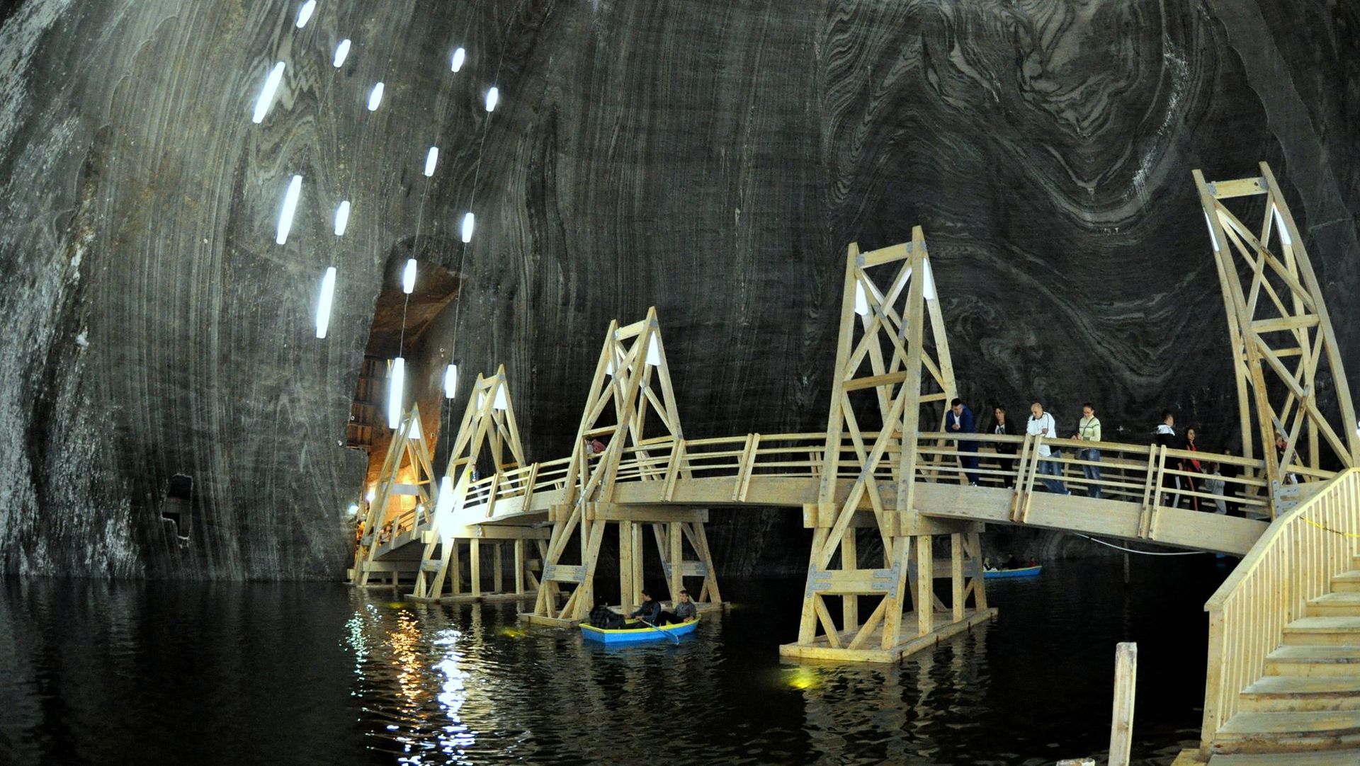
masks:
<instances>
[{"instance_id":1,"label":"rightmost wooden A-frame tower, rising behind the staircase railing","mask_svg":"<svg viewBox=\"0 0 1360 766\"><path fill-rule=\"evenodd\" d=\"M1257 177L1214 182L1195 170L1194 181L1228 315L1242 451L1251 458L1259 448L1276 516L1296 494L1289 477L1310 478L1300 466L1322 467L1326 452L1329 462L1353 467L1360 440L1322 287L1284 189L1269 164L1259 170ZM1248 227L1239 213L1255 213L1261 224ZM1330 373L1337 413L1325 413L1318 403L1319 373Z\"/></svg>"}]
</instances>

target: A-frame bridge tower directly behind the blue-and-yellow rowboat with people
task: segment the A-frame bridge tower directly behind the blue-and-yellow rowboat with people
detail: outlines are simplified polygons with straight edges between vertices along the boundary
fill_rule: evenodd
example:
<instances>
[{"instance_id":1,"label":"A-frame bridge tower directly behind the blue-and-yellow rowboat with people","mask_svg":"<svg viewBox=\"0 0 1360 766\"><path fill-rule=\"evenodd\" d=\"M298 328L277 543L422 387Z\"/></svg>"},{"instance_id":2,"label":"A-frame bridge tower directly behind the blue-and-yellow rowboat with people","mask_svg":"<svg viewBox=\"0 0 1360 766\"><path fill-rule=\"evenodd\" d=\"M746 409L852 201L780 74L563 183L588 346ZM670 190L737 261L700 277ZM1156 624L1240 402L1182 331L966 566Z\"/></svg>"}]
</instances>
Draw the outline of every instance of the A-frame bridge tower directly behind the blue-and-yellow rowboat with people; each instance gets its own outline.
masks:
<instances>
[{"instance_id":1,"label":"A-frame bridge tower directly behind the blue-and-yellow rowboat with people","mask_svg":"<svg viewBox=\"0 0 1360 766\"><path fill-rule=\"evenodd\" d=\"M649 429L650 426L650 429ZM593 451L592 444L602 444ZM567 471L562 503L549 509L552 539L532 614L544 625L581 621L593 606L593 580L608 524L619 526L619 603L624 611L642 591L642 527L653 524L672 598L684 577L703 577L696 602L721 602L717 572L704 535L706 509L620 507L612 503L624 455L653 470L642 481L688 477L684 433L670 384L670 367L657 310L631 325L609 323L596 364ZM575 541L575 545L573 542ZM688 545L687 545L688 543ZM685 549L694 558L685 558ZM559 602L566 598L559 608Z\"/></svg>"}]
</instances>

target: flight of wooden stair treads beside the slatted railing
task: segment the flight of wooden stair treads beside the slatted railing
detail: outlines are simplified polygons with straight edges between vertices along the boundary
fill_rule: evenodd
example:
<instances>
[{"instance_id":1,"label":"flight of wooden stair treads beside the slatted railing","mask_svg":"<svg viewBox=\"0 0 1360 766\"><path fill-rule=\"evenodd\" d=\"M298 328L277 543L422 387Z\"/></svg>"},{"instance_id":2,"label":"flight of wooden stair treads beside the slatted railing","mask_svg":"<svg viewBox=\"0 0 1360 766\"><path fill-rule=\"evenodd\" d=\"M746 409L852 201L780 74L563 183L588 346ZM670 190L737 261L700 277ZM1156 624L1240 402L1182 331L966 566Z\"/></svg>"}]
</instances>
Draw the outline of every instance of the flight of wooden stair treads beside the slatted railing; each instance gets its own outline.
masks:
<instances>
[{"instance_id":1,"label":"flight of wooden stair treads beside the slatted railing","mask_svg":"<svg viewBox=\"0 0 1360 766\"><path fill-rule=\"evenodd\" d=\"M1330 592L1308 599L1289 622L1265 675L1239 695L1238 713L1219 729L1217 754L1337 751L1360 763L1360 557L1331 577ZM1331 761L1326 761L1330 763Z\"/></svg>"}]
</instances>

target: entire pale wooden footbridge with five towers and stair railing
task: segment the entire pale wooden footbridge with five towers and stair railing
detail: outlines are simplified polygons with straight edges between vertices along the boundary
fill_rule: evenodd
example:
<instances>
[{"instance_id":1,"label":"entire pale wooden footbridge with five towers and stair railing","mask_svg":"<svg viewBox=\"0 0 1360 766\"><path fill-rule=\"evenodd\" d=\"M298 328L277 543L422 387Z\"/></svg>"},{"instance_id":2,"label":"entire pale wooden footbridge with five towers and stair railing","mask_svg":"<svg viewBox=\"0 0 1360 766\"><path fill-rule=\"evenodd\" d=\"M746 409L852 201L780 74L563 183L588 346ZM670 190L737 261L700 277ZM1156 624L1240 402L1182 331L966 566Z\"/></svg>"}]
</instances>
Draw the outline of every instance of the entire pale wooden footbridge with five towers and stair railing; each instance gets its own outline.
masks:
<instances>
[{"instance_id":1,"label":"entire pale wooden footbridge with five towers and stair railing","mask_svg":"<svg viewBox=\"0 0 1360 766\"><path fill-rule=\"evenodd\" d=\"M710 508L787 507L802 512L813 543L798 637L781 653L892 661L996 614L981 568L979 532L987 523L1244 555L1224 585L1232 592L1220 591L1208 607L1205 748L1229 750L1236 740L1227 724L1239 694L1268 670L1266 655L1285 638L1285 625L1311 614L1310 599L1326 595L1360 551L1356 538L1345 536L1360 535L1360 508L1348 489L1357 445L1345 371L1302 238L1269 167L1261 170L1217 183L1195 172L1225 300L1243 455L1102 441L1102 475L1088 479L1074 455L1089 443L974 433L966 439L979 450L981 466L968 470L979 478L971 486L957 460L959 437L942 432L953 365L917 227L910 243L869 253L850 246L824 432L685 439L651 310L632 325L609 326L567 458L525 459L503 368L479 376L439 477L412 407L389 448L351 577L359 585L374 576L409 577L415 599L532 592L526 621L571 626L594 603L611 526L619 539L619 606L641 600L650 527L669 592L688 585L702 607L714 607L722 599L704 534ZM1261 230L1246 227L1228 200L1244 201ZM1316 402L1314 382L1323 368L1340 418ZM592 440L605 444L601 454L590 454ZM1015 455L998 455L998 445ZM1044 445L1062 452L1040 458ZM1225 494L1246 517L1187 508L1191 500L1210 507L1214 500L1176 481L1193 475L1180 469L1190 459L1224 466ZM472 481L479 460L495 470ZM1043 490L1051 477L1040 466L1049 460L1072 494ZM398 481L401 471L416 478ZM1087 496L1095 486L1099 498ZM403 508L403 496L413 508ZM1319 513L1326 517L1314 517ZM1308 536L1304 527L1325 530L1323 536ZM948 538L949 550L938 564L937 536ZM491 594L481 589L483 546L494 555ZM503 581L509 546L513 587ZM937 588L936 580L947 584ZM1360 661L1360 596L1355 615L1355 634L1341 637L1353 638ZM1355 691L1360 697L1360 676ZM1360 737L1360 713L1356 718ZM1307 721L1288 725L1295 724Z\"/></svg>"}]
</instances>

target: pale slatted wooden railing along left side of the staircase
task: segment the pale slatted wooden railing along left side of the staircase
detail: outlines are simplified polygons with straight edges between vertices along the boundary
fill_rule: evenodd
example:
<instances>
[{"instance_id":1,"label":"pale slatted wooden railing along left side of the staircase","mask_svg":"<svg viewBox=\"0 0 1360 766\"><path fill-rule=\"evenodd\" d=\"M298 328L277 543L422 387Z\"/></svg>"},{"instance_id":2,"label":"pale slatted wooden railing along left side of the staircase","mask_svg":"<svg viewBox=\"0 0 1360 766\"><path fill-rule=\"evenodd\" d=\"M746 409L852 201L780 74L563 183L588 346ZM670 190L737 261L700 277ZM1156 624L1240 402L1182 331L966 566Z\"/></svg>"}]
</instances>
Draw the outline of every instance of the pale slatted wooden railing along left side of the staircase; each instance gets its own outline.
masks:
<instances>
[{"instance_id":1,"label":"pale slatted wooden railing along left side of the staircase","mask_svg":"<svg viewBox=\"0 0 1360 766\"><path fill-rule=\"evenodd\" d=\"M1325 482L1277 517L1204 604L1209 613L1201 754L1238 712L1239 695L1265 672L1284 626L1306 614L1308 599L1355 568L1360 553L1360 469Z\"/></svg>"}]
</instances>

